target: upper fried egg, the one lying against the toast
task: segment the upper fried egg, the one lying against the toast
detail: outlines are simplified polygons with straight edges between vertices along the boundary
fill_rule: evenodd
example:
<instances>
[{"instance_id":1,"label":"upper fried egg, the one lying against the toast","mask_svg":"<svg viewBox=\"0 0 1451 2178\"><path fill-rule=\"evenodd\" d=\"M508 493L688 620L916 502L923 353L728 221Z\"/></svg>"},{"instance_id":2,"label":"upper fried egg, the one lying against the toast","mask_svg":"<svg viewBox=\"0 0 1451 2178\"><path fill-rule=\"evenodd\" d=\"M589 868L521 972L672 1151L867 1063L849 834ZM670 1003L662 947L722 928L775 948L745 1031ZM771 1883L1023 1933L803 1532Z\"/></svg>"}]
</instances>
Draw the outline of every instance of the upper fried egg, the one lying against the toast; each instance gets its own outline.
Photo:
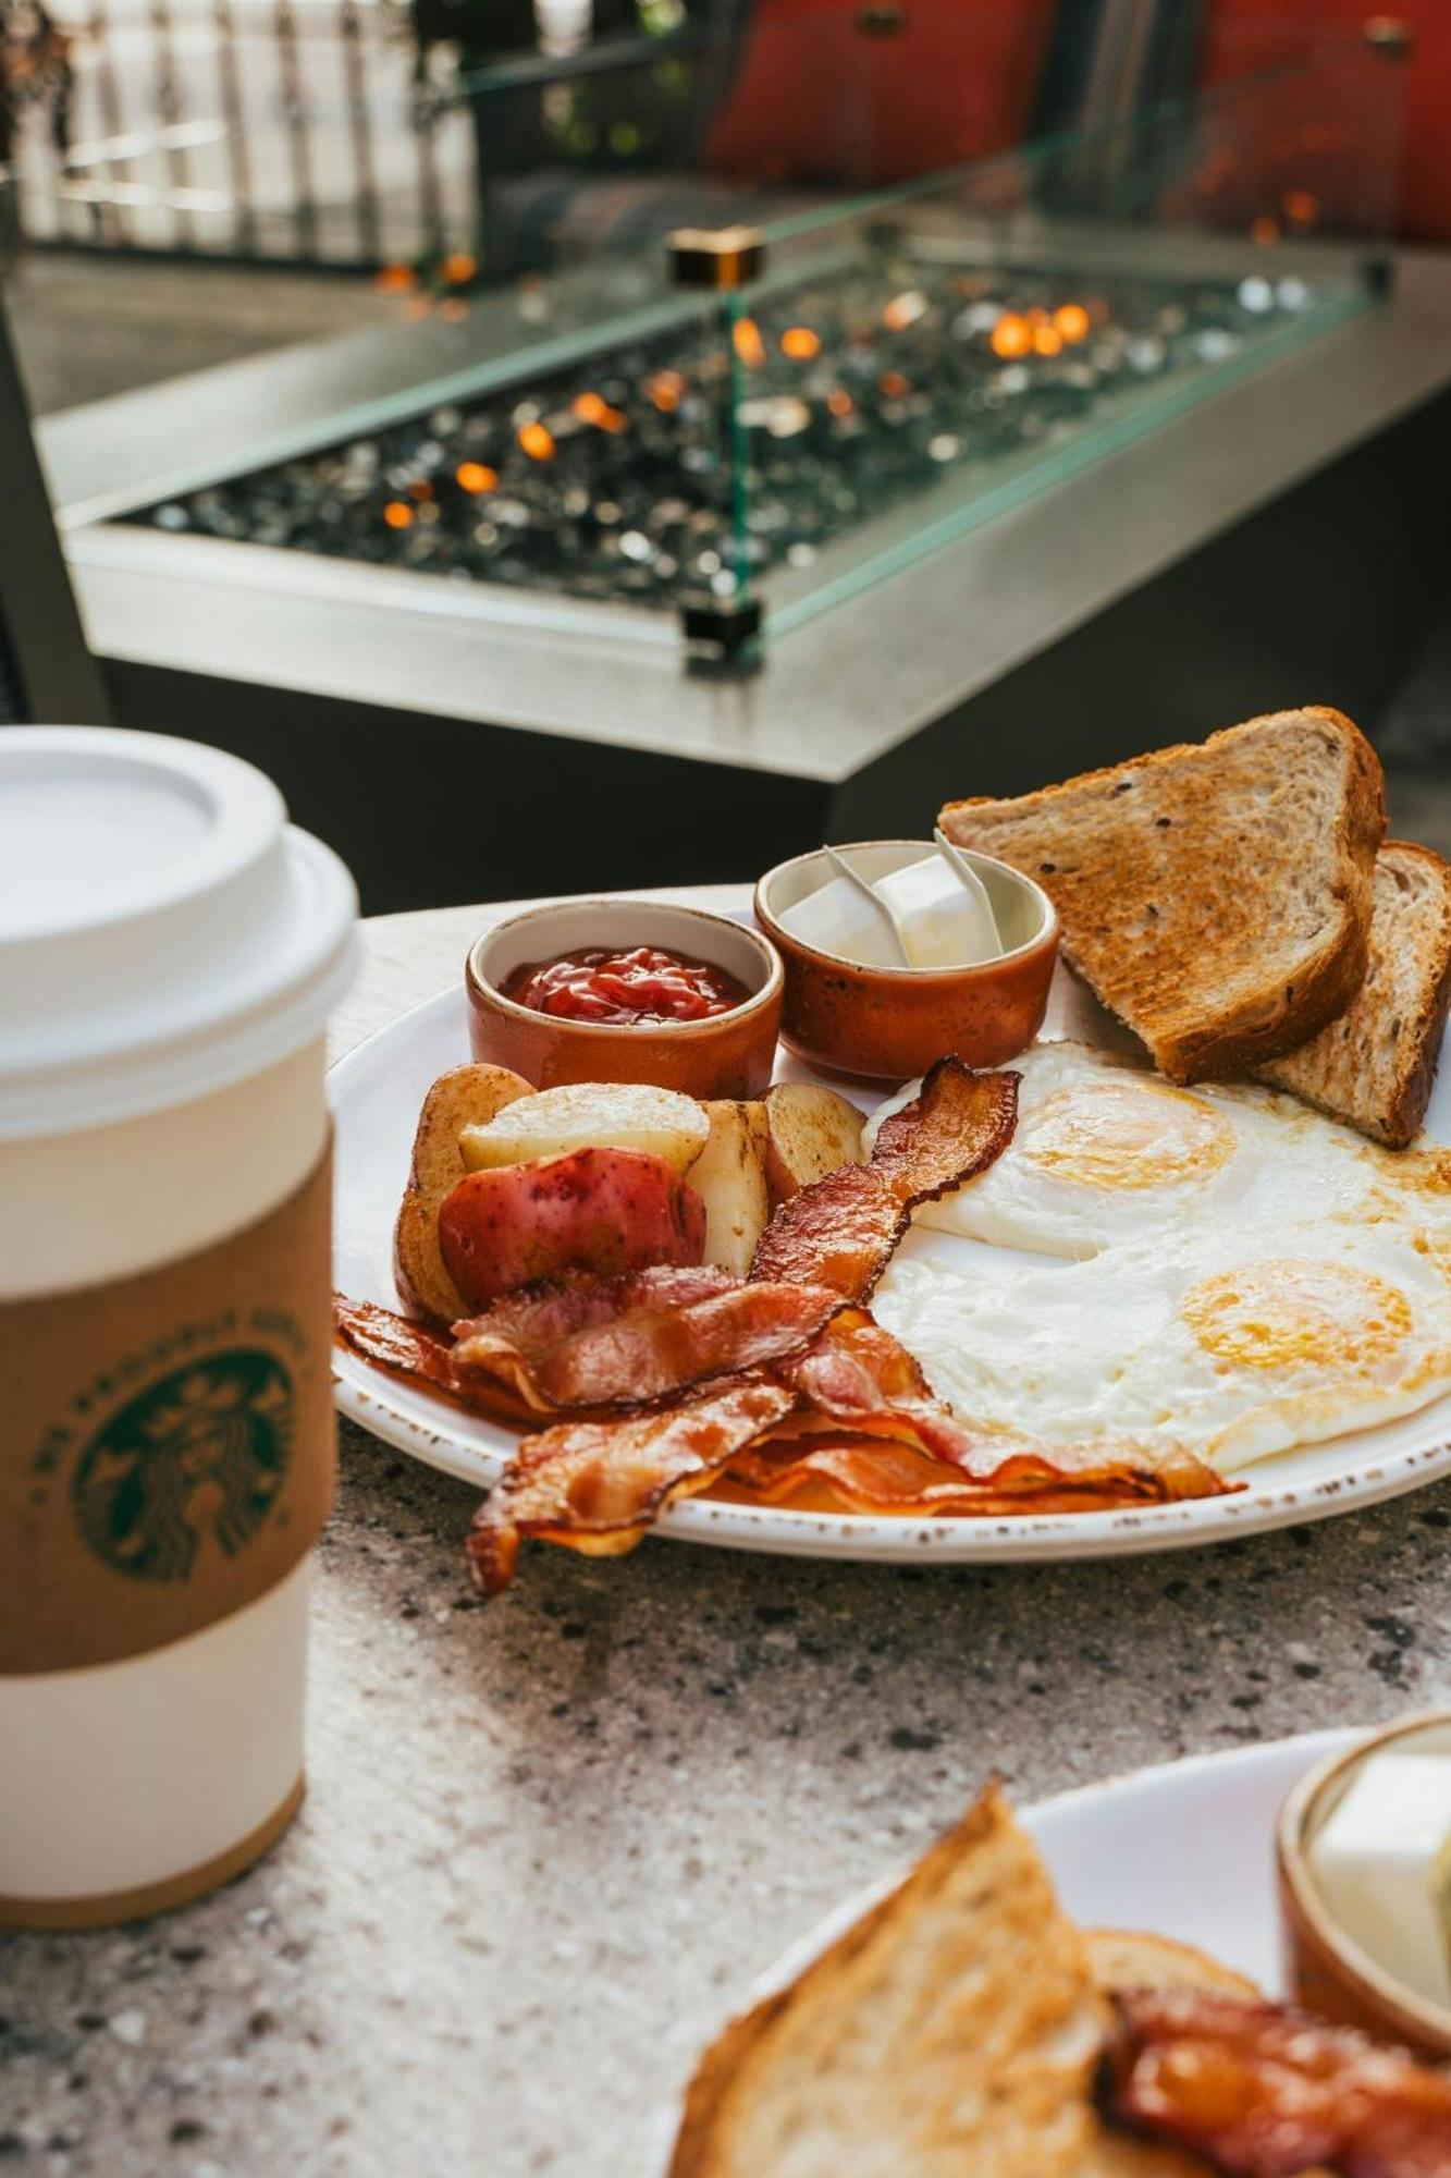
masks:
<instances>
[{"instance_id":1,"label":"upper fried egg, the one lying against the toast","mask_svg":"<svg viewBox=\"0 0 1451 2178\"><path fill-rule=\"evenodd\" d=\"M1246 1082L1176 1089L1083 1043L1013 1061L1017 1128L917 1222L963 1239L1087 1257L1166 1224L1414 1218L1451 1233L1451 1157L1390 1152ZM874 1126L917 1085L893 1098Z\"/></svg>"}]
</instances>

